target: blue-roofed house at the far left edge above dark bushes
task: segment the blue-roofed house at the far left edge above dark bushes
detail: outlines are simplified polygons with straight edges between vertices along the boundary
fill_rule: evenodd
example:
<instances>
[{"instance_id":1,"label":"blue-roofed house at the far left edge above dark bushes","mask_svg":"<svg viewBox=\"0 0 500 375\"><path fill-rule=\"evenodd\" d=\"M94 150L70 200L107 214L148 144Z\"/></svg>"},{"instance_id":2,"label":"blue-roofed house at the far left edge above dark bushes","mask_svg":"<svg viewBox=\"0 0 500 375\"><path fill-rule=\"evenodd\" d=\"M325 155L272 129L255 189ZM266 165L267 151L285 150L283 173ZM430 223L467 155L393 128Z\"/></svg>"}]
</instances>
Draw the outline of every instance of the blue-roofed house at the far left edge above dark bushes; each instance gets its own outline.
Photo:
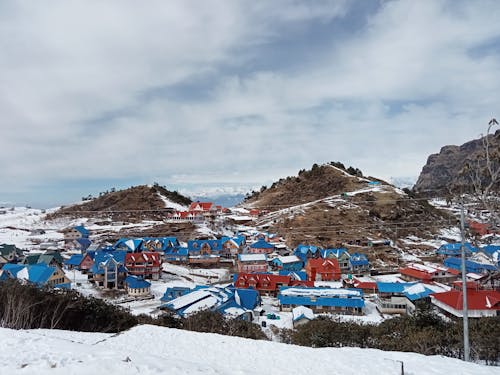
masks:
<instances>
[{"instance_id":1,"label":"blue-roofed house at the far left edge above dark bushes","mask_svg":"<svg viewBox=\"0 0 500 375\"><path fill-rule=\"evenodd\" d=\"M71 288L71 281L59 266L49 266L44 263L6 264L2 271L11 278L26 280L38 286L51 288Z\"/></svg>"}]
</instances>

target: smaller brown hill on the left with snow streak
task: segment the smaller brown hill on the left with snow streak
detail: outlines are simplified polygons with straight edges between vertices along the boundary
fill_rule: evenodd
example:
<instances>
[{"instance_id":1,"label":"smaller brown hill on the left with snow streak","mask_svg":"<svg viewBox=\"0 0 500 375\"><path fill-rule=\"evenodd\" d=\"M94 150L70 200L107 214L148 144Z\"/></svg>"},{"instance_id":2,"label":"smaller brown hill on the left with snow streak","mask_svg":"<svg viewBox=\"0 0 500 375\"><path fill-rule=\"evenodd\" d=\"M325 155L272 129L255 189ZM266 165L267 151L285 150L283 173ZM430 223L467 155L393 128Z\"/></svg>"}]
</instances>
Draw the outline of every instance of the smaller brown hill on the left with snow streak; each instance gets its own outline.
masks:
<instances>
[{"instance_id":1,"label":"smaller brown hill on the left with snow streak","mask_svg":"<svg viewBox=\"0 0 500 375\"><path fill-rule=\"evenodd\" d=\"M156 218L166 209L186 209L191 203L189 198L167 190L160 185L133 186L125 190L101 193L97 198L86 198L82 203L61 207L48 219L60 216L99 216L105 214L113 219L123 220L130 217L141 219Z\"/></svg>"}]
</instances>

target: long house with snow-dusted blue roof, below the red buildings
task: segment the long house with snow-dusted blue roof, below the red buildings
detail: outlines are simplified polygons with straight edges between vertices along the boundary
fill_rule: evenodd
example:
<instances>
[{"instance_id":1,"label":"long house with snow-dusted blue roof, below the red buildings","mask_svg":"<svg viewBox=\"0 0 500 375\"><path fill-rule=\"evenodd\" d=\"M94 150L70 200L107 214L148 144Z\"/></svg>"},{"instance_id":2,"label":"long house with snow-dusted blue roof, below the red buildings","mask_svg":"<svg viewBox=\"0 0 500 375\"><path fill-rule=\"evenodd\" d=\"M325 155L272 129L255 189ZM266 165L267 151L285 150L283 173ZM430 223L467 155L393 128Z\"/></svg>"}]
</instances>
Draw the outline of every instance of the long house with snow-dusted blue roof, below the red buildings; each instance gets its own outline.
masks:
<instances>
[{"instance_id":1,"label":"long house with snow-dusted blue roof, below the red buildings","mask_svg":"<svg viewBox=\"0 0 500 375\"><path fill-rule=\"evenodd\" d=\"M278 301L281 311L305 306L315 313L359 315L365 307L363 292L359 289L281 287Z\"/></svg>"}]
</instances>

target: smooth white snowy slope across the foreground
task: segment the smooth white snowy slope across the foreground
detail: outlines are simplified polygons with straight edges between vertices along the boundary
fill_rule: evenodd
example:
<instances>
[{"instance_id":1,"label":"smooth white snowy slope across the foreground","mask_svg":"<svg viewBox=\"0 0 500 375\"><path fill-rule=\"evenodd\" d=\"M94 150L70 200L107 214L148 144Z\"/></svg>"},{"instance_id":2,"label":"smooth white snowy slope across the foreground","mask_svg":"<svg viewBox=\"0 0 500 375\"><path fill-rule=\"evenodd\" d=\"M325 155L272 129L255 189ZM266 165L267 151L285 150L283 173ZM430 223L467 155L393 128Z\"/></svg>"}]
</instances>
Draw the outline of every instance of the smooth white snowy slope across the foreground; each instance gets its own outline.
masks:
<instances>
[{"instance_id":1,"label":"smooth white snowy slope across the foreground","mask_svg":"<svg viewBox=\"0 0 500 375\"><path fill-rule=\"evenodd\" d=\"M139 326L119 335L0 329L1 374L500 374L458 359L358 348L313 349Z\"/></svg>"}]
</instances>

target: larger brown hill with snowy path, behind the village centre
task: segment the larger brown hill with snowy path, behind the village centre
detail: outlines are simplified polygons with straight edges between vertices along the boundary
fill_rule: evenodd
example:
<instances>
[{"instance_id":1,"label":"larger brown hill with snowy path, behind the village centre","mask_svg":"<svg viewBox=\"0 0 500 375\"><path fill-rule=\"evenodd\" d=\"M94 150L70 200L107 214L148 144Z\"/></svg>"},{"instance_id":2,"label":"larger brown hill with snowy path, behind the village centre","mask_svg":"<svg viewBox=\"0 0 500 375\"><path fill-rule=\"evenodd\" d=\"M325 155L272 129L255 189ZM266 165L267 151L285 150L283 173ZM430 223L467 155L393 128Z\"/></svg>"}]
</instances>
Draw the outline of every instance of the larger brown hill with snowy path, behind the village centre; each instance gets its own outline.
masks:
<instances>
[{"instance_id":1,"label":"larger brown hill with snowy path, behind the village centre","mask_svg":"<svg viewBox=\"0 0 500 375\"><path fill-rule=\"evenodd\" d=\"M308 243L358 251L391 240L406 248L401 241L406 237L432 239L454 223L444 211L407 192L340 163L315 164L254 192L242 206L264 210L258 225L285 237L291 247ZM391 249L370 253L386 263L398 255Z\"/></svg>"}]
</instances>

